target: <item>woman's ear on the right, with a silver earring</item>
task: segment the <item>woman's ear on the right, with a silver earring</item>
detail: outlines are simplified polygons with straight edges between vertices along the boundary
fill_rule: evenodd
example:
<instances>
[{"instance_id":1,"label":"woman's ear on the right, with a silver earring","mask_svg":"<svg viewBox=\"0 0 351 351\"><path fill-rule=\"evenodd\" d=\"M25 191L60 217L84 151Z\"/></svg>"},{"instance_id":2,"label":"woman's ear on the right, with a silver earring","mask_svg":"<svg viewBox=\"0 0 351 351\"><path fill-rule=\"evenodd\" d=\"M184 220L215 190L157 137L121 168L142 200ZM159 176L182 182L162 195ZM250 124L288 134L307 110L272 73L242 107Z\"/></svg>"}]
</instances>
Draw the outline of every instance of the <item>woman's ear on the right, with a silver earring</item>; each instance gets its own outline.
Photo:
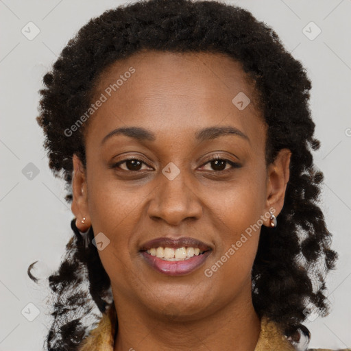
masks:
<instances>
[{"instance_id":1,"label":"woman's ear on the right, with a silver earring","mask_svg":"<svg viewBox=\"0 0 351 351\"><path fill-rule=\"evenodd\" d=\"M282 210L285 199L285 190L290 177L290 158L289 149L281 149L276 160L267 169L267 197L265 213L273 213L276 217ZM265 215L265 226L270 227L269 217Z\"/></svg>"}]
</instances>

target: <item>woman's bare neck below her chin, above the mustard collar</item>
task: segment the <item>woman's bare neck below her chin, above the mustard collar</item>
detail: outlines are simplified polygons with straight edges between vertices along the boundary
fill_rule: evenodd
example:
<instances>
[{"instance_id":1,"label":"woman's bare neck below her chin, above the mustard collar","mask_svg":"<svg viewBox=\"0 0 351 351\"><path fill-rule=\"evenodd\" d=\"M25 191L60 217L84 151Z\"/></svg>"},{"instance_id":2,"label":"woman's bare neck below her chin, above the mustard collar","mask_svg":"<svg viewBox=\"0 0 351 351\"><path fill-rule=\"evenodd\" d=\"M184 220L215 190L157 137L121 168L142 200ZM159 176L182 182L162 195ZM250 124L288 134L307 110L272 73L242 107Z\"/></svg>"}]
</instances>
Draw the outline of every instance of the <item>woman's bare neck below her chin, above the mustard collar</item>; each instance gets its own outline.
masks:
<instances>
[{"instance_id":1,"label":"woman's bare neck below her chin, above the mustard collar","mask_svg":"<svg viewBox=\"0 0 351 351\"><path fill-rule=\"evenodd\" d=\"M232 301L215 313L191 321L162 318L121 296L115 296L114 301L119 306L114 351L254 351L261 330L251 299Z\"/></svg>"}]
</instances>

